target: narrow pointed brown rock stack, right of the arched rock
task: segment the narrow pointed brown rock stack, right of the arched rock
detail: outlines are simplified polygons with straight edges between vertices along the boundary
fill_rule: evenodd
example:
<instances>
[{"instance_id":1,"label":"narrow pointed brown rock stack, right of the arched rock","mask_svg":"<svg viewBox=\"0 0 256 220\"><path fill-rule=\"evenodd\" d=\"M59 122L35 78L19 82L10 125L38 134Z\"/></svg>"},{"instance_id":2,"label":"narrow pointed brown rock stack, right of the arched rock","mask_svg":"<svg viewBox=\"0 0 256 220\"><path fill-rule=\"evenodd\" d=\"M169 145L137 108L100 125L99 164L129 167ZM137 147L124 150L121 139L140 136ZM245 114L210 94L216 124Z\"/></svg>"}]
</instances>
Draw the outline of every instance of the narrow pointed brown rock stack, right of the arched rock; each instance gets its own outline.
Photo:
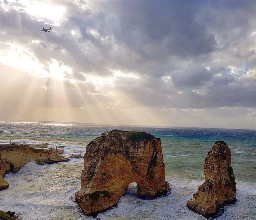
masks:
<instances>
[{"instance_id":1,"label":"narrow pointed brown rock stack, right of the arched rock","mask_svg":"<svg viewBox=\"0 0 256 220\"><path fill-rule=\"evenodd\" d=\"M204 164L204 183L198 187L187 207L208 218L225 203L236 201L236 182L231 167L231 152L224 141L217 141Z\"/></svg>"}]
</instances>

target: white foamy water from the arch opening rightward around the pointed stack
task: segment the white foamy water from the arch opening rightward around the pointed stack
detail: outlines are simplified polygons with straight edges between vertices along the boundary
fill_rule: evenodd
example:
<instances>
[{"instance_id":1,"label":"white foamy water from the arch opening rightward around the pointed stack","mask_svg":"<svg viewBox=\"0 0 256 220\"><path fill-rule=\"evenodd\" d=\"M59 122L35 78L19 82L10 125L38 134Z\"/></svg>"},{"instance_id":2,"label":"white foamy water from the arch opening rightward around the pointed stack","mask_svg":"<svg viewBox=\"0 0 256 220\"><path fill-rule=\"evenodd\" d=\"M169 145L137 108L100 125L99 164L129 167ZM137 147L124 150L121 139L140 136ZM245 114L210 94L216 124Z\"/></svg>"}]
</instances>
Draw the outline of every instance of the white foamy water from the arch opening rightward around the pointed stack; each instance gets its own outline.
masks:
<instances>
[{"instance_id":1,"label":"white foamy water from the arch opening rightward around the pointed stack","mask_svg":"<svg viewBox=\"0 0 256 220\"><path fill-rule=\"evenodd\" d=\"M117 204L117 208L99 214L102 220L117 219L146 219L146 220L206 220L203 216L186 207L186 202L191 199L193 193L203 180L190 180L179 177L169 177L168 182L172 187L170 196L155 200L140 200L136 197L136 185L128 187L127 195L123 196ZM246 190L245 190L246 189ZM255 195L255 184L243 182L237 183L237 202L224 207L224 214L218 220L240 220L253 218L253 202L255 197L247 197L249 193ZM253 192L254 190L254 192ZM131 212L131 210L133 210Z\"/></svg>"}]
</instances>

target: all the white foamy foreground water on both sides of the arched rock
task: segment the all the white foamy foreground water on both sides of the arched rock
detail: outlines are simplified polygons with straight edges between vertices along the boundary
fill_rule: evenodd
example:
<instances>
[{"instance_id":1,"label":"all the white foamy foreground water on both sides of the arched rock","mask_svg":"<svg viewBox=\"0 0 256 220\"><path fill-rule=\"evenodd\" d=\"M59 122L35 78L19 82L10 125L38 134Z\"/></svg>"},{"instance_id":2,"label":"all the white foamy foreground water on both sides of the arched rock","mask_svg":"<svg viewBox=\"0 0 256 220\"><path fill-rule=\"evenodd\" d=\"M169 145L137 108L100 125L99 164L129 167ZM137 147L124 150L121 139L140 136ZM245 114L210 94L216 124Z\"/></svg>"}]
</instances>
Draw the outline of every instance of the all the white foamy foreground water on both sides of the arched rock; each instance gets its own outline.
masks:
<instances>
[{"instance_id":1,"label":"all the white foamy foreground water on both sides of the arched rock","mask_svg":"<svg viewBox=\"0 0 256 220\"><path fill-rule=\"evenodd\" d=\"M82 161L70 161L52 165L28 163L21 172L6 175L10 188L1 191L1 209L26 212L26 220L62 219L84 220L86 217L74 200L80 188ZM18 174L18 177L17 177ZM154 200L137 198L136 183L128 187L116 208L99 214L101 220L205 220L186 207L186 202L203 180L169 176L171 195ZM237 182L237 202L225 206L224 214L217 220L253 219L255 216L256 184ZM58 201L58 202L56 202ZM132 210L132 211L131 211Z\"/></svg>"}]
</instances>

